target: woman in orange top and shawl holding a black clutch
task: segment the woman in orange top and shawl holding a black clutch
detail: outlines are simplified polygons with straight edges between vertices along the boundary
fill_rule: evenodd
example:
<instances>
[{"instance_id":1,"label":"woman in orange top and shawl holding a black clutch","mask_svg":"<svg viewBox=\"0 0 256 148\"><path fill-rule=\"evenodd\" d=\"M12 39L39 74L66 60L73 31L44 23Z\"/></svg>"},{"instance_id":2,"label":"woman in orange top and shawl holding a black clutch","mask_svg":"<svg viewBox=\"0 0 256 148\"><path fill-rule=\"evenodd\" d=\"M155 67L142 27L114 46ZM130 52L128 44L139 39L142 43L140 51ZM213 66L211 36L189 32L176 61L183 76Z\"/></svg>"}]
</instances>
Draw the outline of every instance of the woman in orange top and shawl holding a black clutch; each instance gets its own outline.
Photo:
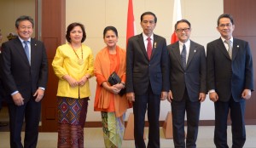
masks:
<instances>
[{"instance_id":1,"label":"woman in orange top and shawl holding a black clutch","mask_svg":"<svg viewBox=\"0 0 256 148\"><path fill-rule=\"evenodd\" d=\"M96 54L95 76L96 97L94 110L101 111L103 136L106 148L121 147L125 129L125 111L129 108L125 94L119 91L125 88L125 49L116 45L118 31L113 26L107 26L103 31L106 47ZM121 83L111 86L108 77L115 71Z\"/></svg>"}]
</instances>

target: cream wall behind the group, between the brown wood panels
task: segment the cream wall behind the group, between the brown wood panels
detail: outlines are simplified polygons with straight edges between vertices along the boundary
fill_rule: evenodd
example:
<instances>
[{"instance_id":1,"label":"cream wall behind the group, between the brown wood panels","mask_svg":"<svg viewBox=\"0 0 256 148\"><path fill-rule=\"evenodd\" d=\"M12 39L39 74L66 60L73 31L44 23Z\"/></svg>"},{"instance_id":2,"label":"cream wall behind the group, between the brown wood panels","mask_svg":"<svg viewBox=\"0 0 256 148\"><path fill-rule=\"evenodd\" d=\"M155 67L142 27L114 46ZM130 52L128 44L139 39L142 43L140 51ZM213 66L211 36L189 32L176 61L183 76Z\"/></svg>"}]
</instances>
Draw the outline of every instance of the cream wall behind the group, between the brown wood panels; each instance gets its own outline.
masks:
<instances>
[{"instance_id":1,"label":"cream wall behind the group, between the brown wood panels","mask_svg":"<svg viewBox=\"0 0 256 148\"><path fill-rule=\"evenodd\" d=\"M158 18L155 34L166 37L170 44L173 32L172 9L173 0L133 0L133 12L136 21L137 33L141 33L140 16L145 11L152 11ZM219 37L216 31L217 18L223 14L223 0L181 0L183 19L191 23L192 33L190 39L205 46L210 41ZM87 33L85 44L90 46L93 54L105 46L102 33L105 26L115 26L119 31L119 46L125 48L126 20L128 0L67 0L66 1L66 26L73 22L84 24ZM93 111L96 90L95 78L90 79L90 103L87 121L101 121L99 112ZM130 109L127 111L131 112ZM160 121L166 119L166 114L171 111L168 101L161 102ZM128 117L129 114L126 114ZM201 105L201 120L214 119L213 103L207 98Z\"/></svg>"}]
</instances>

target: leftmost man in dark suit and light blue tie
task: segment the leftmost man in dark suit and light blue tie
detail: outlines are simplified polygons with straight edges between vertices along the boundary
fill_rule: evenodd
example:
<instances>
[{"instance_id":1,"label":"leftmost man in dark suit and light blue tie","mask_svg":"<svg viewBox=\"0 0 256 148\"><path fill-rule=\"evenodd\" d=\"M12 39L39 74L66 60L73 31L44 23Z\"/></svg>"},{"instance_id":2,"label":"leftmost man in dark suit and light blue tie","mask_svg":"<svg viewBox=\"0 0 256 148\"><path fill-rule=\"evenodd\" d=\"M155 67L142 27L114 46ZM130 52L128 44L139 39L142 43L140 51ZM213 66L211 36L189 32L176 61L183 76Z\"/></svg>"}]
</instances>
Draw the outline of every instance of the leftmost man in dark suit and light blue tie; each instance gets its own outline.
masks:
<instances>
[{"instance_id":1,"label":"leftmost man in dark suit and light blue tie","mask_svg":"<svg viewBox=\"0 0 256 148\"><path fill-rule=\"evenodd\" d=\"M18 37L3 43L1 57L3 87L9 106L10 147L21 148L21 128L25 118L24 147L38 142L41 100L48 79L44 43L31 38L34 22L30 16L15 21Z\"/></svg>"}]
</instances>

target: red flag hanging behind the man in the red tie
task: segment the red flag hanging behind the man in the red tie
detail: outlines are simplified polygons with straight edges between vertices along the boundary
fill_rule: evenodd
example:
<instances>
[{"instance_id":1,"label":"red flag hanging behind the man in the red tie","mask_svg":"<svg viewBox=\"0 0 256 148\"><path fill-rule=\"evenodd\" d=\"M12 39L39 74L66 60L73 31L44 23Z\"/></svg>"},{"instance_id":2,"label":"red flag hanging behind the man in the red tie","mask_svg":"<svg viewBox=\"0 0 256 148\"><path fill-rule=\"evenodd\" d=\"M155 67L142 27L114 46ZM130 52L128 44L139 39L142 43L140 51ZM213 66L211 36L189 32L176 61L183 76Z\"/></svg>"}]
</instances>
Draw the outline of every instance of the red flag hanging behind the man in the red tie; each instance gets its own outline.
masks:
<instances>
[{"instance_id":1,"label":"red flag hanging behind the man in the red tie","mask_svg":"<svg viewBox=\"0 0 256 148\"><path fill-rule=\"evenodd\" d=\"M128 39L134 35L136 35L136 27L135 27L134 15L133 15L132 0L129 0L128 14L127 14L126 45L128 43Z\"/></svg>"}]
</instances>

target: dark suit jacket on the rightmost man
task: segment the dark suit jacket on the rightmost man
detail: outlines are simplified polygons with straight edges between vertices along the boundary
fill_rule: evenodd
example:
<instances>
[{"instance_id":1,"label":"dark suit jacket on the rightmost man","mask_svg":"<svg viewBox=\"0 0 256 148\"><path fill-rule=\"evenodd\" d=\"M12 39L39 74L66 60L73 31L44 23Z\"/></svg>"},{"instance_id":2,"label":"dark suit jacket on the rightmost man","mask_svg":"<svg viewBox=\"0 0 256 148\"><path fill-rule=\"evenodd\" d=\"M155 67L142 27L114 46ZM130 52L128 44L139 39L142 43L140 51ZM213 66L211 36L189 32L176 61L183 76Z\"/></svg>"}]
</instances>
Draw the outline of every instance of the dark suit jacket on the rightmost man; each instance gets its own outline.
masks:
<instances>
[{"instance_id":1,"label":"dark suit jacket on the rightmost man","mask_svg":"<svg viewBox=\"0 0 256 148\"><path fill-rule=\"evenodd\" d=\"M253 58L246 41L234 38L232 60L221 38L207 44L207 87L224 102L231 94L238 102L245 88L253 90Z\"/></svg>"}]
</instances>

